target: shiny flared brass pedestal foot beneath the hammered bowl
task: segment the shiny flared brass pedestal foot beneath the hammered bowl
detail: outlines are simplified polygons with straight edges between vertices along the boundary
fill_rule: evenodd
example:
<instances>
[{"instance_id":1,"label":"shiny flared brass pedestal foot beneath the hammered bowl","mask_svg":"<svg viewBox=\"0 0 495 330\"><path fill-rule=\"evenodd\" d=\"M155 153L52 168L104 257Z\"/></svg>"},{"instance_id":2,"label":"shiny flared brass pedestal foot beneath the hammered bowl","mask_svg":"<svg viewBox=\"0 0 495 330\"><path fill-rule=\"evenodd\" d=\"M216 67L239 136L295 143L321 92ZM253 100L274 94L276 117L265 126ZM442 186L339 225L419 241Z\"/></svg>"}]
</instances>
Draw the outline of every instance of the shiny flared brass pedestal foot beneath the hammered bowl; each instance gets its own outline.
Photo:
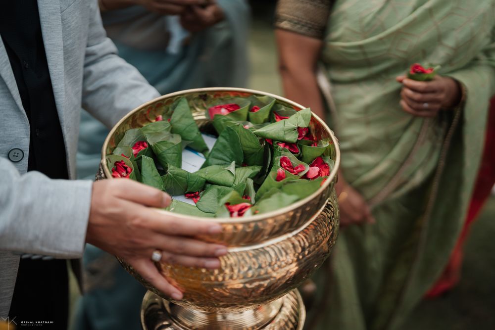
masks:
<instances>
[{"instance_id":1,"label":"shiny flared brass pedestal foot beneath the hammered bowl","mask_svg":"<svg viewBox=\"0 0 495 330\"><path fill-rule=\"evenodd\" d=\"M301 330L305 318L297 290L254 310L237 313L200 312L148 291L141 308L143 330Z\"/></svg>"}]
</instances>

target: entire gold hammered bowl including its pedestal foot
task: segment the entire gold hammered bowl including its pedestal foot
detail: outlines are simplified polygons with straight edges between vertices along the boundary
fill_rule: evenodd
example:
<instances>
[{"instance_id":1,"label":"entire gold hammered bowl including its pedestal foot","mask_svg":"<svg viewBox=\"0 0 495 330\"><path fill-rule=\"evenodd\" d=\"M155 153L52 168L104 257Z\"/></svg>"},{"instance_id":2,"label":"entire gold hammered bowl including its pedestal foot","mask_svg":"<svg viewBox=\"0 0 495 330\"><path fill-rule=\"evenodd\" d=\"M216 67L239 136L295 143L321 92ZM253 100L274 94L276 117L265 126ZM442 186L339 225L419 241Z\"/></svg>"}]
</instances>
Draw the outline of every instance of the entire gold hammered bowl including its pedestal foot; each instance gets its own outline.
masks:
<instances>
[{"instance_id":1,"label":"entire gold hammered bowl including its pedestal foot","mask_svg":"<svg viewBox=\"0 0 495 330\"><path fill-rule=\"evenodd\" d=\"M280 96L238 88L203 88L158 97L131 111L110 131L103 145L99 178L111 179L106 155L125 131L148 124L177 98L186 96L201 131L212 132L206 104L250 95L268 95L282 105L303 108ZM183 300L164 296L119 260L149 290L141 311L144 329L302 329L305 310L296 288L329 256L339 228L334 189L340 164L337 140L314 114L310 130L318 139L332 141L336 149L335 167L316 192L282 209L246 218L189 217L220 223L222 234L202 238L227 245L229 253L220 258L217 270L156 263L160 273L184 292Z\"/></svg>"}]
</instances>

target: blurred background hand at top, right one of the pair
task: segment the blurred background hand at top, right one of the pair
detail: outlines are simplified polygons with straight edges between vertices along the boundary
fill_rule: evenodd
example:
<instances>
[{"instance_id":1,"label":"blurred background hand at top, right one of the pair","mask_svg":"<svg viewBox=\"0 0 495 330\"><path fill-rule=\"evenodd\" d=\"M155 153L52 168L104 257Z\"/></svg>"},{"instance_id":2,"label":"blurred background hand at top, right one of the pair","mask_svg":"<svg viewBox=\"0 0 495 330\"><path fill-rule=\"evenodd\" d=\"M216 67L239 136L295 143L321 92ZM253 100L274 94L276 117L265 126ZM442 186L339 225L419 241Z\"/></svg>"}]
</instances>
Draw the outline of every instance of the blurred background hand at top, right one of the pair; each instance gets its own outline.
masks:
<instances>
[{"instance_id":1,"label":"blurred background hand at top, right one of the pair","mask_svg":"<svg viewBox=\"0 0 495 330\"><path fill-rule=\"evenodd\" d=\"M181 15L181 24L189 32L199 32L224 19L224 13L213 0L205 6L189 6Z\"/></svg>"}]
</instances>

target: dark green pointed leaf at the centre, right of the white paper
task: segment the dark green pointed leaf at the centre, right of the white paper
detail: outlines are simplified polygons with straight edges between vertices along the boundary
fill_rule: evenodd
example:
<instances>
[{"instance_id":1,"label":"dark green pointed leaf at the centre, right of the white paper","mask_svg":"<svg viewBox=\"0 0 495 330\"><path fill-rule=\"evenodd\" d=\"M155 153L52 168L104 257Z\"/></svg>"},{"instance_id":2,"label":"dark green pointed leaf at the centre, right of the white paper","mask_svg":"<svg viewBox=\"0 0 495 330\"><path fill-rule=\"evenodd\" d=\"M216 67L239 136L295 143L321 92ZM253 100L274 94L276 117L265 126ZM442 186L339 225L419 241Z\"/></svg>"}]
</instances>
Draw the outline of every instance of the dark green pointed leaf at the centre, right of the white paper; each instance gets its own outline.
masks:
<instances>
[{"instance_id":1,"label":"dark green pointed leaf at the centre, right of the white paper","mask_svg":"<svg viewBox=\"0 0 495 330\"><path fill-rule=\"evenodd\" d=\"M228 165L232 161L238 165L242 164L244 153L239 134L228 127L218 137L201 168L210 165Z\"/></svg>"}]
</instances>

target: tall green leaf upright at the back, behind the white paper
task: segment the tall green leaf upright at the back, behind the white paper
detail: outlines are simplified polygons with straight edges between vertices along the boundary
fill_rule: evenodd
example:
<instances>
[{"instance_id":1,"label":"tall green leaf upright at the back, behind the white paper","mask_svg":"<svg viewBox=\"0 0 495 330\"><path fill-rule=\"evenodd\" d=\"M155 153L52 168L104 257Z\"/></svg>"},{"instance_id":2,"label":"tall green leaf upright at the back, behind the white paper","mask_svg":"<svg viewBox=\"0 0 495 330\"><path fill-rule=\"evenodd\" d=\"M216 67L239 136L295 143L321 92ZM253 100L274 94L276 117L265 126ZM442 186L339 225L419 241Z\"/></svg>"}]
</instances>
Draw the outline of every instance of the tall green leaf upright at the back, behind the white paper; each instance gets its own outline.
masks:
<instances>
[{"instance_id":1,"label":"tall green leaf upright at the back, behind the white paper","mask_svg":"<svg viewBox=\"0 0 495 330\"><path fill-rule=\"evenodd\" d=\"M185 97L181 97L172 105L172 116L170 117L170 125L172 133L179 134L183 141L190 141L188 146L198 152L208 151L208 146L204 142L198 125L193 118L191 108Z\"/></svg>"}]
</instances>

